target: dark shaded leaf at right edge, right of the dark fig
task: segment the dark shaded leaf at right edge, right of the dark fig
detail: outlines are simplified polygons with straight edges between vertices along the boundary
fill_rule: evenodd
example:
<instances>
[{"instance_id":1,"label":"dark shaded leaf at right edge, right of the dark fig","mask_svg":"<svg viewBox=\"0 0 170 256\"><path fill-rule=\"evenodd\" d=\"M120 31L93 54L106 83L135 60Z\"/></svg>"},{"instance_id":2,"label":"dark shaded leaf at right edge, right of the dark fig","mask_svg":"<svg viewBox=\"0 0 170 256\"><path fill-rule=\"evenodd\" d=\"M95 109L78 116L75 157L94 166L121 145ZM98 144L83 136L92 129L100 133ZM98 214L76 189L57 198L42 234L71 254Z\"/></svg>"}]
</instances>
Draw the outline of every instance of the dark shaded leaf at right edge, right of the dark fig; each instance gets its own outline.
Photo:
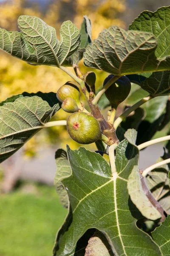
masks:
<instances>
[{"instance_id":1,"label":"dark shaded leaf at right edge, right of the dark fig","mask_svg":"<svg viewBox=\"0 0 170 256\"><path fill-rule=\"evenodd\" d=\"M153 72L140 86L153 97L169 95L170 71Z\"/></svg>"}]
</instances>

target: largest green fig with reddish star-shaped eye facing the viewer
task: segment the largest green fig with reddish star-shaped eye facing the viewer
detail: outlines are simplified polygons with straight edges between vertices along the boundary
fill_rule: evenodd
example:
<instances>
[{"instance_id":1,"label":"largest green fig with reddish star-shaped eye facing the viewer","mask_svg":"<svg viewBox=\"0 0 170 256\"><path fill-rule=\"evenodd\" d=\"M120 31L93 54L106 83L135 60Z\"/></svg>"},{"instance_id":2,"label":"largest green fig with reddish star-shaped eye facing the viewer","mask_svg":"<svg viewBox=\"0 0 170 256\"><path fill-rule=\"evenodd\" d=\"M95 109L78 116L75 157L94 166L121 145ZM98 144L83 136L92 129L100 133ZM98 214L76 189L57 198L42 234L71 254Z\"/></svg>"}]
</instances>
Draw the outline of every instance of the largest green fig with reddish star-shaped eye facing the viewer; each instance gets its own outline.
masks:
<instances>
[{"instance_id":1,"label":"largest green fig with reddish star-shaped eye facing the viewer","mask_svg":"<svg viewBox=\"0 0 170 256\"><path fill-rule=\"evenodd\" d=\"M90 144L102 136L99 122L91 114L84 112L68 116L67 130L70 137L80 144Z\"/></svg>"}]
</instances>

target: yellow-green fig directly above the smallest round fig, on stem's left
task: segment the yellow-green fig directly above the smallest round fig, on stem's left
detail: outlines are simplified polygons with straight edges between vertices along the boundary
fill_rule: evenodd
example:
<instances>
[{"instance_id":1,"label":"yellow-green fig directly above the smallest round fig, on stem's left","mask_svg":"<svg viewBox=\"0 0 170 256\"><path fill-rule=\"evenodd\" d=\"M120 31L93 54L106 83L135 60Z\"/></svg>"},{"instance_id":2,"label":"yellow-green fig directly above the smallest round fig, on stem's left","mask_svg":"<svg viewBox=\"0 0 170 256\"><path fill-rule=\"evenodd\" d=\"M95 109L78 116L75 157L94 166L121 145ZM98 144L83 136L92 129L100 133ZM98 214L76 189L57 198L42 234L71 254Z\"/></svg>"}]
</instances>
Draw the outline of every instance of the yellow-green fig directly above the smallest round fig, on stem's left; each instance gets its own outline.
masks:
<instances>
[{"instance_id":1,"label":"yellow-green fig directly above the smallest round fig, on stem's left","mask_svg":"<svg viewBox=\"0 0 170 256\"><path fill-rule=\"evenodd\" d=\"M60 102L63 102L66 98L74 99L74 101L77 103L77 105L80 104L79 88L72 81L65 83L57 91L57 99Z\"/></svg>"}]
</instances>

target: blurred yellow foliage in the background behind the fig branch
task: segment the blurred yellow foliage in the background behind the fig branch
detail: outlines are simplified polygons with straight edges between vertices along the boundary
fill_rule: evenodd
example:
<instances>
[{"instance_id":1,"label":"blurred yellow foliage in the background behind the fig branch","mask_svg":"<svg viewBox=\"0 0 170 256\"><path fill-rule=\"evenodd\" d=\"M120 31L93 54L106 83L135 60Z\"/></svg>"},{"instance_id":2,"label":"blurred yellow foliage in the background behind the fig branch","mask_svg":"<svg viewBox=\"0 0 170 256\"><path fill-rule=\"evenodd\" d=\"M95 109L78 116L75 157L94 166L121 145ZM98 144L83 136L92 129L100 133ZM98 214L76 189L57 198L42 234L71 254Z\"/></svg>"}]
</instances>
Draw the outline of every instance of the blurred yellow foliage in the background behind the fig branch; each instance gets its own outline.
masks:
<instances>
[{"instance_id":1,"label":"blurred yellow foliage in the background behind the fig branch","mask_svg":"<svg viewBox=\"0 0 170 256\"><path fill-rule=\"evenodd\" d=\"M31 2L32 3L32 2ZM92 23L92 37L96 38L102 29L116 24L124 26L124 23L117 18L117 15L125 11L125 0L60 0L53 1L48 5L45 12L40 12L40 6L35 3L31 4L26 0L11 0L0 4L0 27L8 31L18 30L17 19L20 15L35 15L41 17L46 23L55 27L57 36L59 28L64 21L62 14L71 19L77 27L80 28L83 15L88 15ZM66 7L68 8L66 12ZM74 17L69 12L70 8L74 9ZM89 68L80 63L80 70L86 73ZM102 81L107 76L106 73L96 70L97 84L102 85ZM49 66L32 66L24 61L20 61L10 55L1 52L0 56L0 101L7 97L27 91L28 93L37 91L57 92L57 89L70 81L71 78L62 70ZM60 110L53 119L66 119L68 113ZM78 144L68 136L66 128L53 127L41 131L26 143L24 150L28 156L35 154L35 148L43 144L53 144L65 147L68 143L71 148L77 148ZM93 145L90 146L90 148Z\"/></svg>"}]
</instances>

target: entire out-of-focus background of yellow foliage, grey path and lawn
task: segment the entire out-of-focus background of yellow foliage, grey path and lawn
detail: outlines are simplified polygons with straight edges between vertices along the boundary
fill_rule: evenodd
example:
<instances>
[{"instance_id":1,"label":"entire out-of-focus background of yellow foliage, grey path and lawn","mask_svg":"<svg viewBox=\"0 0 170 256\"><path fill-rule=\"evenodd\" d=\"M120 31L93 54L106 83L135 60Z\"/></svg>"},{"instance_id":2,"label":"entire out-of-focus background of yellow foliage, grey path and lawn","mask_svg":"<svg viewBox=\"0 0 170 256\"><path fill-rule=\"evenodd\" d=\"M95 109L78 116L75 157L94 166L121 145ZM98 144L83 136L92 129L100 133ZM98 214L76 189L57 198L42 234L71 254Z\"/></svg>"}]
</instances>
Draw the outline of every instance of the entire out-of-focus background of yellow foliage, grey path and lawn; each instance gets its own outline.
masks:
<instances>
[{"instance_id":1,"label":"entire out-of-focus background of yellow foliage, grey path and lawn","mask_svg":"<svg viewBox=\"0 0 170 256\"><path fill-rule=\"evenodd\" d=\"M18 30L20 15L35 15L53 26L59 38L63 21L71 20L79 28L83 15L88 15L95 39L104 28L116 24L127 29L143 10L156 11L169 4L169 0L0 0L0 27ZM82 63L80 70L87 70ZM97 70L96 75L100 87L107 74ZM69 80L55 67L34 67L0 51L0 101L24 91L57 92ZM60 110L53 120L66 118ZM0 256L51 255L56 232L67 213L53 186L54 155L66 143L72 149L79 147L66 128L43 129L0 165ZM95 144L88 148L96 150ZM154 146L151 161L162 152ZM150 164L146 155L147 151L140 159L143 168Z\"/></svg>"}]
</instances>

